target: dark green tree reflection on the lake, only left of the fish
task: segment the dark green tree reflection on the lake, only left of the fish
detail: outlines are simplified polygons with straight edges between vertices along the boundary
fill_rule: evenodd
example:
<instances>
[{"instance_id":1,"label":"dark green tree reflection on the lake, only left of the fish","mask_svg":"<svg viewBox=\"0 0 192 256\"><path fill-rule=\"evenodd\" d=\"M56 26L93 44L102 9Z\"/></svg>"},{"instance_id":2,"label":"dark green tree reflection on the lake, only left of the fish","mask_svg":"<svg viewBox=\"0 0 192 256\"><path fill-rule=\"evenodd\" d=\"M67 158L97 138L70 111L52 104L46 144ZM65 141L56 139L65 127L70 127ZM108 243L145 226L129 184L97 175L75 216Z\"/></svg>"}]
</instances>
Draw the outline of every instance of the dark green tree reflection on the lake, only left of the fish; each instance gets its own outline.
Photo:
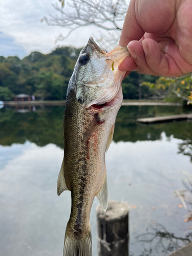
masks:
<instances>
[{"instance_id":1,"label":"dark green tree reflection on the lake, only left of the fish","mask_svg":"<svg viewBox=\"0 0 192 256\"><path fill-rule=\"evenodd\" d=\"M63 148L62 117L64 106L52 106L45 109L17 113L12 108L0 112L0 144L23 144L27 140L45 146L54 143Z\"/></svg>"}]
</instances>

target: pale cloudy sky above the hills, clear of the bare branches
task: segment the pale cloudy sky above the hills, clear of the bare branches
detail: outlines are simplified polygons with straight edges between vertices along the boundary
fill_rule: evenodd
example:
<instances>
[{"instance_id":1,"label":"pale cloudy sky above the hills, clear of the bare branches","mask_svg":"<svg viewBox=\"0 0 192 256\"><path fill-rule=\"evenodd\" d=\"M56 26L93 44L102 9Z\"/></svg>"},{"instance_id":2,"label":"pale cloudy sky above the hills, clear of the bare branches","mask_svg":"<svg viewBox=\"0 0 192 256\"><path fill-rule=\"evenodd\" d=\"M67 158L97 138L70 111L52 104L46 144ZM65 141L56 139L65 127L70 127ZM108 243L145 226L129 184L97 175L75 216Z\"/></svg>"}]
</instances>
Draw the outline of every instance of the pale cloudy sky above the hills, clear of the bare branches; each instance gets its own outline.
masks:
<instances>
[{"instance_id":1,"label":"pale cloudy sky above the hills, clear of the bare branches","mask_svg":"<svg viewBox=\"0 0 192 256\"><path fill-rule=\"evenodd\" d=\"M0 56L17 55L20 58L32 51L50 53L58 46L83 47L90 36L99 38L99 29L90 26L73 32L65 41L56 37L67 29L48 26L40 20L57 13L52 7L58 0L8 0L0 4ZM66 8L66 7L65 7ZM68 8L68 7L67 7Z\"/></svg>"}]
</instances>

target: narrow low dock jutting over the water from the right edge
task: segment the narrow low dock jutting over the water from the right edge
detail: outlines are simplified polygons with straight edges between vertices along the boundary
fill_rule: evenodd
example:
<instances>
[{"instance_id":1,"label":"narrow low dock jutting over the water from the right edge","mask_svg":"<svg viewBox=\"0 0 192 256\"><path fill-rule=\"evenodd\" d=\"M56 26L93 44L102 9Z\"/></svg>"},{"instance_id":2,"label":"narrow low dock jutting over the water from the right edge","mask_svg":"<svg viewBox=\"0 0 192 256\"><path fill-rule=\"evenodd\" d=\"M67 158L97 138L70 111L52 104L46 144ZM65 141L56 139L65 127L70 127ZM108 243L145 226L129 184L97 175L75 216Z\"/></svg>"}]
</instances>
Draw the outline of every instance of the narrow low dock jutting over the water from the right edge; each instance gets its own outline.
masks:
<instances>
[{"instance_id":1,"label":"narrow low dock jutting over the water from the right edge","mask_svg":"<svg viewBox=\"0 0 192 256\"><path fill-rule=\"evenodd\" d=\"M192 119L192 114L138 118L137 122L149 124L149 123L173 122L173 121L180 121L180 120L187 120L187 119Z\"/></svg>"}]
</instances>

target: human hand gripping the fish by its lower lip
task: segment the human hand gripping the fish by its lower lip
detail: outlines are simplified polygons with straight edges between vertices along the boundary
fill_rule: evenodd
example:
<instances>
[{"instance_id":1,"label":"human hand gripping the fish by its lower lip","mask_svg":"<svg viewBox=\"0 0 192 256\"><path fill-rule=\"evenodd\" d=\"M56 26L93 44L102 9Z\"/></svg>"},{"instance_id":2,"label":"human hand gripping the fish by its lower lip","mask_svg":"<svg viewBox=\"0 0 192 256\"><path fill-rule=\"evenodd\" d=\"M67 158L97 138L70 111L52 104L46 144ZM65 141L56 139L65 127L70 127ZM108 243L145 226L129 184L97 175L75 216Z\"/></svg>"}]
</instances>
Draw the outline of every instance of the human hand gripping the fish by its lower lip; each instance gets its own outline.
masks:
<instances>
[{"instance_id":1,"label":"human hand gripping the fish by its lower lip","mask_svg":"<svg viewBox=\"0 0 192 256\"><path fill-rule=\"evenodd\" d=\"M119 45L132 57L119 70L167 77L192 72L191 13L191 0L131 0Z\"/></svg>"}]
</instances>

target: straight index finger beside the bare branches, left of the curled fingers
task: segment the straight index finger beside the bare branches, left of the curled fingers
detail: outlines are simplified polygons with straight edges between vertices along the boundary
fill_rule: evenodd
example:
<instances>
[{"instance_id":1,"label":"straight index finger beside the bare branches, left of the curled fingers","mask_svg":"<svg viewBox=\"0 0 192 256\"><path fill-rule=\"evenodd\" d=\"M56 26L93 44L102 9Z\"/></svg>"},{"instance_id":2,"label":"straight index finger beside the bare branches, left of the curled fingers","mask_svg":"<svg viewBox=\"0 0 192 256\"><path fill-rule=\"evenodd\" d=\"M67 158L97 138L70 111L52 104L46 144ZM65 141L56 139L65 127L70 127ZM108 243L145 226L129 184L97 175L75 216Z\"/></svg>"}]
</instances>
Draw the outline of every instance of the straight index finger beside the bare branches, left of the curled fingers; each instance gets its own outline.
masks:
<instances>
[{"instance_id":1,"label":"straight index finger beside the bare branches, left of the curled fingers","mask_svg":"<svg viewBox=\"0 0 192 256\"><path fill-rule=\"evenodd\" d=\"M136 19L135 10L138 9L138 1L131 0L129 8L126 13L126 17L124 20L119 45L127 46L132 40L139 40L143 35L144 31L140 27Z\"/></svg>"}]
</instances>

